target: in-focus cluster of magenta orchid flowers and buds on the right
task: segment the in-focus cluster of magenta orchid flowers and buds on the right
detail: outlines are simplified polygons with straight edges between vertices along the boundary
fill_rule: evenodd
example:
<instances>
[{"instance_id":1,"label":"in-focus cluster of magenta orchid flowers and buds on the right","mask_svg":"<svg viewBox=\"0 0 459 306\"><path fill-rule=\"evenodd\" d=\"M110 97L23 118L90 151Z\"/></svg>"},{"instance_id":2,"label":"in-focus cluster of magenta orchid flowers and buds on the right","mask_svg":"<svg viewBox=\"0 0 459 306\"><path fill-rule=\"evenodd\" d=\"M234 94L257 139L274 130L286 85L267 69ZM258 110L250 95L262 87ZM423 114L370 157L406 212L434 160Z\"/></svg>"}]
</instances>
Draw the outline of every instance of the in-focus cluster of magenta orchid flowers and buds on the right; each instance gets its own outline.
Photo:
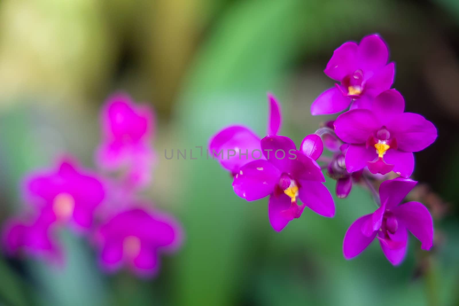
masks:
<instances>
[{"instance_id":1,"label":"in-focus cluster of magenta orchid flowers and buds on the right","mask_svg":"<svg viewBox=\"0 0 459 306\"><path fill-rule=\"evenodd\" d=\"M408 231L420 240L423 250L433 245L427 208L419 202L401 203L417 184L409 178L413 152L431 145L437 129L421 115L404 112L403 96L391 89L395 65L388 63L388 57L387 45L377 34L359 44L346 42L334 51L324 72L340 83L319 95L311 113L344 112L306 136L299 150L290 138L278 135L280 107L270 94L266 137L260 139L244 126L230 126L210 139L209 150L233 175L236 195L247 201L269 196L269 222L276 231L300 217L305 207L334 217L335 204L323 184L322 168L336 179L338 198L347 197L353 183L367 183L379 208L349 227L344 257L359 255L377 238L387 259L398 265L407 251ZM331 158L321 156L324 145L333 152ZM372 184L376 179L382 180L379 194Z\"/></svg>"}]
</instances>

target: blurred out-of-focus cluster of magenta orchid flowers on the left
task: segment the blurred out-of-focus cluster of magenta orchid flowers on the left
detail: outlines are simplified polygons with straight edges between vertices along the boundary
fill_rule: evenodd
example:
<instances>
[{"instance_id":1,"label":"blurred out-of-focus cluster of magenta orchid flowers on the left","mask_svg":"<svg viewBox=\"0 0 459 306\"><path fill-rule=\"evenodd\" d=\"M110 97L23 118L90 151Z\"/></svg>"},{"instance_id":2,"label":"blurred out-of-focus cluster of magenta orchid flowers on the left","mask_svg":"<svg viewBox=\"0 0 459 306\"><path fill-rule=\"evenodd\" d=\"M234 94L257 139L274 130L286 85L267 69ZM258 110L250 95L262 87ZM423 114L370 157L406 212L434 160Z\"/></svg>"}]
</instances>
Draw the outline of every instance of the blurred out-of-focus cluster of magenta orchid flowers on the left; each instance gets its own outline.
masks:
<instances>
[{"instance_id":1,"label":"blurred out-of-focus cluster of magenta orchid flowers on the left","mask_svg":"<svg viewBox=\"0 0 459 306\"><path fill-rule=\"evenodd\" d=\"M101 112L98 171L65 157L52 169L28 175L26 206L3 231L6 252L61 264L59 231L70 228L95 247L105 271L124 266L141 277L154 276L160 253L173 252L182 240L179 223L139 196L151 181L154 123L149 107L127 95L111 96Z\"/></svg>"}]
</instances>

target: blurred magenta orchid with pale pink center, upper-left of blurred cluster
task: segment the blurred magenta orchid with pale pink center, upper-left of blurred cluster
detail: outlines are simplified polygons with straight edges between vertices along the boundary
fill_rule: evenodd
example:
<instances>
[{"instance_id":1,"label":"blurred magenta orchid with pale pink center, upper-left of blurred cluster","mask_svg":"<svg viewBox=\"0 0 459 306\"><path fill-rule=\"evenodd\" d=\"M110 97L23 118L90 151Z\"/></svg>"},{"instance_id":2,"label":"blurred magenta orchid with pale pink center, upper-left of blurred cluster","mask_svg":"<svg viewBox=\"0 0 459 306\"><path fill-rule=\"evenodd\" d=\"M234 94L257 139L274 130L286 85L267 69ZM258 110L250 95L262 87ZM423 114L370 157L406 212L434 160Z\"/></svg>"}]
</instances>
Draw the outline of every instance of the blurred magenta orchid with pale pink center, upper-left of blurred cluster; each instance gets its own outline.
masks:
<instances>
[{"instance_id":1,"label":"blurred magenta orchid with pale pink center, upper-left of blurred cluster","mask_svg":"<svg viewBox=\"0 0 459 306\"><path fill-rule=\"evenodd\" d=\"M55 170L31 175L25 193L46 218L71 223L79 230L92 226L94 211L105 197L101 181L70 161L63 161Z\"/></svg>"}]
</instances>

